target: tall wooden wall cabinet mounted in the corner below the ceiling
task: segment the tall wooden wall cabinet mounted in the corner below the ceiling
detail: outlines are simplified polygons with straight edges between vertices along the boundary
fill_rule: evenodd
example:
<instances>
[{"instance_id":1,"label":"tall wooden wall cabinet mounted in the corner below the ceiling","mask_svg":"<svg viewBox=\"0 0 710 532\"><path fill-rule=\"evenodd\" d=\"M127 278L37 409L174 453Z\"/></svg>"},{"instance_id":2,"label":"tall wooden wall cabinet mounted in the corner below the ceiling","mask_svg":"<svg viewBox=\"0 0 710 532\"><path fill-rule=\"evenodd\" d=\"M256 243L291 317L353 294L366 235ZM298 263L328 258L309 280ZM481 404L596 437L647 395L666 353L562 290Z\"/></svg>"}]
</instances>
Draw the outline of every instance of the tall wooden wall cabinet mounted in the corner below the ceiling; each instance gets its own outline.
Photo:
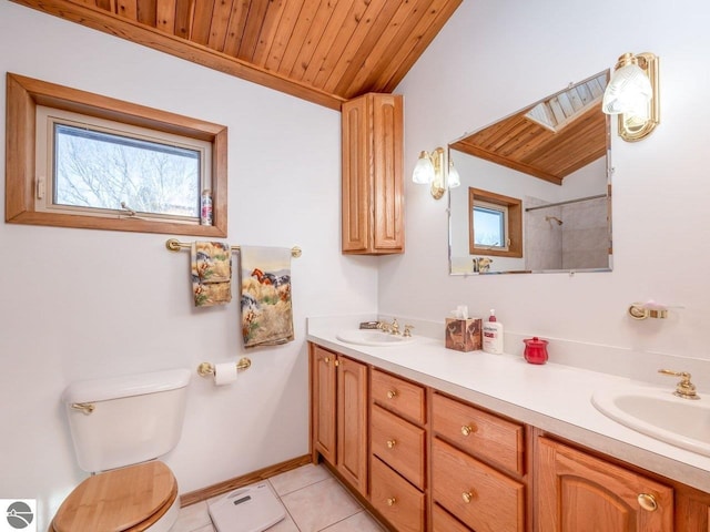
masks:
<instances>
[{"instance_id":1,"label":"tall wooden wall cabinet mounted in the corner below the ceiling","mask_svg":"<svg viewBox=\"0 0 710 532\"><path fill-rule=\"evenodd\" d=\"M343 253L404 253L404 111L399 94L342 108Z\"/></svg>"}]
</instances>

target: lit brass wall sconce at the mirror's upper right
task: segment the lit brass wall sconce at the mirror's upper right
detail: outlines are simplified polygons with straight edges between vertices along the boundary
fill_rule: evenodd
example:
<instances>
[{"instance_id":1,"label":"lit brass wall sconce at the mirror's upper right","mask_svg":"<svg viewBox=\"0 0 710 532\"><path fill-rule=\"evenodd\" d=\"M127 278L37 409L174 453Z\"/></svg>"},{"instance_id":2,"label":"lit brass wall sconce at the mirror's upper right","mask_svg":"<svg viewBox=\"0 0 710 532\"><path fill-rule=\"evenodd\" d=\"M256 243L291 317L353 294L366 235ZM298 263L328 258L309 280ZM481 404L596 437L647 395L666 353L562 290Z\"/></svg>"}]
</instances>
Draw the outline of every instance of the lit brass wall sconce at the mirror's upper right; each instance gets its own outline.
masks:
<instances>
[{"instance_id":1,"label":"lit brass wall sconce at the mirror's upper right","mask_svg":"<svg viewBox=\"0 0 710 532\"><path fill-rule=\"evenodd\" d=\"M625 141L648 136L660 120L658 58L649 52L621 55L604 92L601 110L619 115L619 136Z\"/></svg>"}]
</instances>

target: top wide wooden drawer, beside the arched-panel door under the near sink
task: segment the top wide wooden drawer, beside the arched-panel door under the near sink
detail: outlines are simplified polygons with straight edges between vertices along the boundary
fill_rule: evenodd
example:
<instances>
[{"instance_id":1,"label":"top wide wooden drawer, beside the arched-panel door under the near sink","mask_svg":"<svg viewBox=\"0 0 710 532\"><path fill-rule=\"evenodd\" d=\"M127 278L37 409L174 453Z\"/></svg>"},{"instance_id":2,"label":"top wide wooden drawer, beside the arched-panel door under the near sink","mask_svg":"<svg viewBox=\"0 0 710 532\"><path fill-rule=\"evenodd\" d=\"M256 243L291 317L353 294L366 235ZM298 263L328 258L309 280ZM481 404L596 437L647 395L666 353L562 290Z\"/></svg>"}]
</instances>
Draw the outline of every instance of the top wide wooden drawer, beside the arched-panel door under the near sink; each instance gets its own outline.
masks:
<instances>
[{"instance_id":1,"label":"top wide wooden drawer, beside the arched-panel door under the near sink","mask_svg":"<svg viewBox=\"0 0 710 532\"><path fill-rule=\"evenodd\" d=\"M469 405L434 393L433 428L458 448L525 473L525 430Z\"/></svg>"}]
</instances>

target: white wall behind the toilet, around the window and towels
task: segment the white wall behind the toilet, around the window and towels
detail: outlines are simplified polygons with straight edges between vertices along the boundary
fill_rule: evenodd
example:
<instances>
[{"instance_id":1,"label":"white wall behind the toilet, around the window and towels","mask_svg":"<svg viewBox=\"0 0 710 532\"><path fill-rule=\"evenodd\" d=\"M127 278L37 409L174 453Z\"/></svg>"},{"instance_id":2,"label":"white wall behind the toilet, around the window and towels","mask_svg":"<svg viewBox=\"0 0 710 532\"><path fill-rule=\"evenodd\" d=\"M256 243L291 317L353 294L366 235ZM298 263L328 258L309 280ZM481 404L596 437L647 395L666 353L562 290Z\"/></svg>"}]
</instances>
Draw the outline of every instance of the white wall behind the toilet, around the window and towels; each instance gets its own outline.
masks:
<instances>
[{"instance_id":1,"label":"white wall behind the toilet, around the window and towels","mask_svg":"<svg viewBox=\"0 0 710 532\"><path fill-rule=\"evenodd\" d=\"M193 374L166 461L186 492L307 453L305 318L376 310L376 259L339 252L339 113L8 1L0 50L2 124L9 71L229 127L227 241L303 248L296 340L248 351L229 388ZM168 252L170 236L0 223L0 498L38 499L38 530L84 477L60 406L69 382L245 355L237 299L194 309L189 253Z\"/></svg>"}]
</instances>

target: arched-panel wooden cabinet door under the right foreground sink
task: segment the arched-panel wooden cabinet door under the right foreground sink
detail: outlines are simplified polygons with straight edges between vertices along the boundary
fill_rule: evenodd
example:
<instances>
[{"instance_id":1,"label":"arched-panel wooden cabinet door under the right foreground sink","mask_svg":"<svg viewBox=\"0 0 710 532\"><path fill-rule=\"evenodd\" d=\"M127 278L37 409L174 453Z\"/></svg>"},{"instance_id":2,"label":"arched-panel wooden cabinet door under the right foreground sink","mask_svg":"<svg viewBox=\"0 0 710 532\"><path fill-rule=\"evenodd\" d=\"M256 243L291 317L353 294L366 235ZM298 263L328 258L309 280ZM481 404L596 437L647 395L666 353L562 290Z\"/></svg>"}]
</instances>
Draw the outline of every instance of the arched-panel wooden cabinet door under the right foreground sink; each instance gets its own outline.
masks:
<instances>
[{"instance_id":1,"label":"arched-panel wooden cabinet door under the right foreground sink","mask_svg":"<svg viewBox=\"0 0 710 532\"><path fill-rule=\"evenodd\" d=\"M538 532L672 532L671 488L545 438L537 458Z\"/></svg>"}]
</instances>

